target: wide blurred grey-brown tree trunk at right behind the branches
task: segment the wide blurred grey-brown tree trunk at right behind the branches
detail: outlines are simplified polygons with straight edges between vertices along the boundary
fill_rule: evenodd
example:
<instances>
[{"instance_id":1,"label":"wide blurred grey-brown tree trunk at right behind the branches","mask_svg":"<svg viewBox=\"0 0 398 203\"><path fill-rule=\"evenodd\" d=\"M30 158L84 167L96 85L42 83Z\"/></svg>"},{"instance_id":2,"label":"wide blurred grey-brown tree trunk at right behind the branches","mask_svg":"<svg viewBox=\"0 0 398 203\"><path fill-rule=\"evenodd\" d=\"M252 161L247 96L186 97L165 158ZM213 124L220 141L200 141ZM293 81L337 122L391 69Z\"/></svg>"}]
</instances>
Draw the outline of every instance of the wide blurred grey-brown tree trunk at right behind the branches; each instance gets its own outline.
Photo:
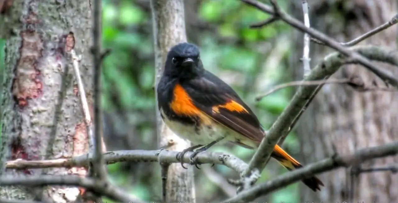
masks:
<instances>
[{"instance_id":1,"label":"wide blurred grey-brown tree trunk at right behind the branches","mask_svg":"<svg viewBox=\"0 0 398 203\"><path fill-rule=\"evenodd\" d=\"M311 0L311 27L315 27L341 42L355 37L390 20L397 13L396 0ZM295 1L292 12L302 19L301 1ZM397 48L397 26L382 31L359 45L382 45ZM302 79L303 35L293 32L295 53L291 68L296 79ZM314 66L331 49L311 45L311 64ZM396 67L381 64L380 67L397 72ZM385 86L375 74L362 66L344 66L334 78L359 76L368 86ZM326 84L310 107L300 118L297 129L304 162L314 162L337 152L347 154L359 148L377 146L398 140L398 94L394 92L358 92L349 86ZM360 167L388 166L398 161L397 157L365 162ZM391 172L373 172L351 176L351 169L335 170L320 176L325 183L321 192L314 193L301 188L301 202L397 202L398 176ZM353 187L351 187L351 177Z\"/></svg>"}]
</instances>

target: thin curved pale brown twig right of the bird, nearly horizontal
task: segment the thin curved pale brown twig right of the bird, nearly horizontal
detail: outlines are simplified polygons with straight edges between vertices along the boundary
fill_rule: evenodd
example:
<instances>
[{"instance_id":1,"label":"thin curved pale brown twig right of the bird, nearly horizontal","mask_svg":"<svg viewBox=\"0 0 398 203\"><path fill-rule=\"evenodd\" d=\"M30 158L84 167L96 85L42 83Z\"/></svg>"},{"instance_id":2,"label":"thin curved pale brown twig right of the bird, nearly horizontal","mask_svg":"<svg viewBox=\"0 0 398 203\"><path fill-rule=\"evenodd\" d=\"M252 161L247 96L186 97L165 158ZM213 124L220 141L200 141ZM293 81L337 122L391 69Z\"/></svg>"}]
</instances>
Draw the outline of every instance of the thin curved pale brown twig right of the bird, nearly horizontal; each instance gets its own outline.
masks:
<instances>
[{"instance_id":1,"label":"thin curved pale brown twig right of the bird, nearly horizontal","mask_svg":"<svg viewBox=\"0 0 398 203\"><path fill-rule=\"evenodd\" d=\"M262 98L268 96L269 94L291 86L308 86L308 85L320 85L320 84L330 84L330 83L347 83L350 82L350 79L348 78L343 78L343 79L329 79L329 80L316 80L316 81L293 81L293 82L287 82L284 84L280 84L277 86L274 86L271 90L266 92L265 94L261 94L256 97L256 101L260 101Z\"/></svg>"}]
</instances>

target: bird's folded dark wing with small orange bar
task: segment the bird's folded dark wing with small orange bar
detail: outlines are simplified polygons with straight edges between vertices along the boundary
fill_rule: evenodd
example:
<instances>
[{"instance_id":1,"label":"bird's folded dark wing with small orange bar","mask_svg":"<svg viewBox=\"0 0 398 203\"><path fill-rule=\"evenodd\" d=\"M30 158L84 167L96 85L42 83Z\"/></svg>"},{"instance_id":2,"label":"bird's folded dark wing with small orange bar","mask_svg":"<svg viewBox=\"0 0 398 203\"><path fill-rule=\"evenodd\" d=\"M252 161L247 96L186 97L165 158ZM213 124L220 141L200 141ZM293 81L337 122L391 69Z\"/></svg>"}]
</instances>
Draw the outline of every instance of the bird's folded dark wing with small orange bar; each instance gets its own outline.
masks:
<instances>
[{"instance_id":1,"label":"bird's folded dark wing with small orange bar","mask_svg":"<svg viewBox=\"0 0 398 203\"><path fill-rule=\"evenodd\" d=\"M261 142L264 131L253 111L228 84L206 72L205 76L183 84L195 106L222 125Z\"/></svg>"}]
</instances>

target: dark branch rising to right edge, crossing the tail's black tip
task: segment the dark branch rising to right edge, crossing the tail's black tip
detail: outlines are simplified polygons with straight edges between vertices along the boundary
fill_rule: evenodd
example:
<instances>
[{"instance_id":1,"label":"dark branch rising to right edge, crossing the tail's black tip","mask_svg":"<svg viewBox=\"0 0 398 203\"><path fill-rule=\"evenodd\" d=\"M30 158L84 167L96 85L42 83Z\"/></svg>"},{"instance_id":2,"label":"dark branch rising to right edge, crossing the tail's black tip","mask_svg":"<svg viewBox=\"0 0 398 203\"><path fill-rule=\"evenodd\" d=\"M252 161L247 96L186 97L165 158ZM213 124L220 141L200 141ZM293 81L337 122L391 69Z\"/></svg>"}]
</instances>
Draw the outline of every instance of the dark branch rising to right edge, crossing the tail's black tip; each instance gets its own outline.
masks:
<instances>
[{"instance_id":1,"label":"dark branch rising to right edge, crossing the tail's black tip","mask_svg":"<svg viewBox=\"0 0 398 203\"><path fill-rule=\"evenodd\" d=\"M311 177L322 172L333 170L339 167L349 167L360 164L366 160L373 158L380 158L385 156L395 156L398 154L398 142L388 143L382 146L369 147L362 150L357 150L353 154L339 156L338 154L320 160L316 163L308 164L303 168L287 172L277 178L267 181L263 184L257 185L246 191L242 191L240 194L227 199L224 202L238 203L238 202L250 202L257 197L267 195L273 191L276 191L282 187L295 183L303 178Z\"/></svg>"}]
</instances>

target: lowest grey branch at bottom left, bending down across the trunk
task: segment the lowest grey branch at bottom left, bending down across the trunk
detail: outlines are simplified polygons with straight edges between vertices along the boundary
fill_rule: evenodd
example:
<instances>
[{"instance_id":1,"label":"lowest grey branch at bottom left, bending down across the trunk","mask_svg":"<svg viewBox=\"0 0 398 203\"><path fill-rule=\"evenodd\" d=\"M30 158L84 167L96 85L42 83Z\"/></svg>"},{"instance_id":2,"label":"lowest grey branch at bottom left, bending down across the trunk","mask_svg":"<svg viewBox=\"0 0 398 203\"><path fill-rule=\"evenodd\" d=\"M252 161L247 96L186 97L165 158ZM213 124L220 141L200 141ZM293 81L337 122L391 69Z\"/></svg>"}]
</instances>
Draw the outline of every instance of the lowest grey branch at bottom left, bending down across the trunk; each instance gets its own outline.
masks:
<instances>
[{"instance_id":1,"label":"lowest grey branch at bottom left, bending down across the trunk","mask_svg":"<svg viewBox=\"0 0 398 203\"><path fill-rule=\"evenodd\" d=\"M142 202L136 197L128 195L128 193L120 191L107 183L99 183L91 178L81 178L79 176L27 176L27 177L12 177L0 178L0 185L24 185L24 186L45 186L45 185L71 185L80 186L95 193L104 195L119 202Z\"/></svg>"}]
</instances>

